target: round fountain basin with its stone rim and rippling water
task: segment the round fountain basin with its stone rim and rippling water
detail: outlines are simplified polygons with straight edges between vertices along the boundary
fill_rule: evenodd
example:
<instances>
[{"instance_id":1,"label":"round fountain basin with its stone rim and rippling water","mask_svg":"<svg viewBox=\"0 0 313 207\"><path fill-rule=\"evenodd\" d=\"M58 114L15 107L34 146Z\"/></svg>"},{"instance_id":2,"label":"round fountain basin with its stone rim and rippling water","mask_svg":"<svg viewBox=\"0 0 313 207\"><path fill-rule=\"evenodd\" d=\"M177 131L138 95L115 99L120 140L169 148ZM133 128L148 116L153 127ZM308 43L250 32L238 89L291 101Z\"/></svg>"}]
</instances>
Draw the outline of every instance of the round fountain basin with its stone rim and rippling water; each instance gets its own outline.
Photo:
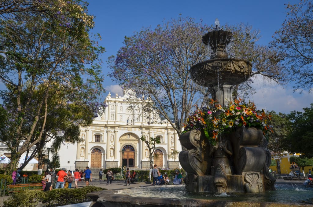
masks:
<instances>
[{"instance_id":1,"label":"round fountain basin with its stone rim and rippling water","mask_svg":"<svg viewBox=\"0 0 313 207\"><path fill-rule=\"evenodd\" d=\"M191 193L185 185L137 187L87 194L96 206L313 206L313 188L280 179L276 191L264 193Z\"/></svg>"}]
</instances>

